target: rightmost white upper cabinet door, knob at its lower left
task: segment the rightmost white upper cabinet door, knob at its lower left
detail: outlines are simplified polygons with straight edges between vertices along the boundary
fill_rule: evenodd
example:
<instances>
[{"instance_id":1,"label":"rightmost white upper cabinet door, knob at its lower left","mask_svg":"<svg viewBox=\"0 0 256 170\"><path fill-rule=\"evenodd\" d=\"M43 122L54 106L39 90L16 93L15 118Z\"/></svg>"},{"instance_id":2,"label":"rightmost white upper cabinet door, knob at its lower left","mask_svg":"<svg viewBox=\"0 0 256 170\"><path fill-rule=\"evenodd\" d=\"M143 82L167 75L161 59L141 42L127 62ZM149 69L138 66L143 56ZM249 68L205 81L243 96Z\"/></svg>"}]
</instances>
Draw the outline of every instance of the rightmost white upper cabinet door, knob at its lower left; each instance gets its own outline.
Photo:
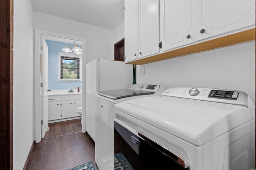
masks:
<instances>
[{"instance_id":1,"label":"rightmost white upper cabinet door, knob at its lower left","mask_svg":"<svg viewBox=\"0 0 256 170\"><path fill-rule=\"evenodd\" d=\"M198 0L197 7L198 40L255 24L255 0Z\"/></svg>"}]
</instances>

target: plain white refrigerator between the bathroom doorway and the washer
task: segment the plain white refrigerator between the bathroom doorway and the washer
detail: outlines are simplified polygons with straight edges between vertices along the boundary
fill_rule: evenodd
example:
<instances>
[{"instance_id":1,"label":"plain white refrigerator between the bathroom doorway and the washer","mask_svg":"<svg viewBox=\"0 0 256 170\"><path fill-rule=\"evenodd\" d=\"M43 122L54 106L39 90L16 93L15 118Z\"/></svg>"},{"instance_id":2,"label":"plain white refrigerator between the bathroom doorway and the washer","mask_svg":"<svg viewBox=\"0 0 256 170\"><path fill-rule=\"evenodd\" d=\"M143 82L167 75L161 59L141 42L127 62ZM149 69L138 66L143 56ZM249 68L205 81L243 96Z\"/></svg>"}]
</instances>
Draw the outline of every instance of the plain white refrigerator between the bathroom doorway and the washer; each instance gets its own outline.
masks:
<instances>
[{"instance_id":1,"label":"plain white refrigerator between the bathroom doorway and the washer","mask_svg":"<svg viewBox=\"0 0 256 170\"><path fill-rule=\"evenodd\" d=\"M86 64L86 131L95 141L95 93L132 85L132 64L94 59Z\"/></svg>"}]
</instances>

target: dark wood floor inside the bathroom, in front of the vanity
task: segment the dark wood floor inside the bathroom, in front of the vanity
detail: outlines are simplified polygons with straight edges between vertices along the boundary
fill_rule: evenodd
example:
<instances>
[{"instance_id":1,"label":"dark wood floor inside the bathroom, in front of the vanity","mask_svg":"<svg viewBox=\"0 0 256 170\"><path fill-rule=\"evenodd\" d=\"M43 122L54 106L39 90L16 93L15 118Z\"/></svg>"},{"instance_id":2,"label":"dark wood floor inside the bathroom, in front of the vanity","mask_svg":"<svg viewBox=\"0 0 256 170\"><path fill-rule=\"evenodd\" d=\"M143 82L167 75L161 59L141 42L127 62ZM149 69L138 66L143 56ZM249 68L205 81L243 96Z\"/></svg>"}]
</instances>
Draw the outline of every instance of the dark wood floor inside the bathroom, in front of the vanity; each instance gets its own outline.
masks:
<instances>
[{"instance_id":1,"label":"dark wood floor inside the bathroom, in front of the vanity","mask_svg":"<svg viewBox=\"0 0 256 170\"><path fill-rule=\"evenodd\" d=\"M48 126L49 131L46 131L44 139L82 131L81 119L49 123Z\"/></svg>"}]
</instances>

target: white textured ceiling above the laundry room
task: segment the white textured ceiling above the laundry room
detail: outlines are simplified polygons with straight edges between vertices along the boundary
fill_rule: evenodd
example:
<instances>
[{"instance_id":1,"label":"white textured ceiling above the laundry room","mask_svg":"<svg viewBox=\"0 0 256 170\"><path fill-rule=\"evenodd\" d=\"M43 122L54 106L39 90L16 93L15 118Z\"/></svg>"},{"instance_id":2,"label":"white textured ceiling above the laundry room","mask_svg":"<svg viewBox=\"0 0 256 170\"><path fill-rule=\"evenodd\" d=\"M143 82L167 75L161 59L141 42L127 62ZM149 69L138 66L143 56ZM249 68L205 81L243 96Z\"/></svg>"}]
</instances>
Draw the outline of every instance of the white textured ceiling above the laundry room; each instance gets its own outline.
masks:
<instances>
[{"instance_id":1,"label":"white textured ceiling above the laundry room","mask_svg":"<svg viewBox=\"0 0 256 170\"><path fill-rule=\"evenodd\" d=\"M31 0L34 11L114 29L124 20L124 0Z\"/></svg>"}]
</instances>

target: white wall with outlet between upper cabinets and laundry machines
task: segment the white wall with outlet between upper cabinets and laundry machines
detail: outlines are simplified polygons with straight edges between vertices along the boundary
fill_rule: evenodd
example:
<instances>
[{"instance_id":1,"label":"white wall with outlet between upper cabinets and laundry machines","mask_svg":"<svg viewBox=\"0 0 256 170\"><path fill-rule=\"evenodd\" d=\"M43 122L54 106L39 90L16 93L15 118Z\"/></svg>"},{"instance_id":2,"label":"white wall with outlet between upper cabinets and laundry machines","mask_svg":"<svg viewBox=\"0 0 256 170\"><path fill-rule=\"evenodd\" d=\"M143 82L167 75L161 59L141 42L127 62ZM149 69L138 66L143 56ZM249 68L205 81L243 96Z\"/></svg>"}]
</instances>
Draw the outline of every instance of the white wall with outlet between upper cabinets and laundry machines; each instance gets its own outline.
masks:
<instances>
[{"instance_id":1,"label":"white wall with outlet between upper cabinets and laundry machines","mask_svg":"<svg viewBox=\"0 0 256 170\"><path fill-rule=\"evenodd\" d=\"M137 66L137 83L244 91L255 103L255 41Z\"/></svg>"}]
</instances>

